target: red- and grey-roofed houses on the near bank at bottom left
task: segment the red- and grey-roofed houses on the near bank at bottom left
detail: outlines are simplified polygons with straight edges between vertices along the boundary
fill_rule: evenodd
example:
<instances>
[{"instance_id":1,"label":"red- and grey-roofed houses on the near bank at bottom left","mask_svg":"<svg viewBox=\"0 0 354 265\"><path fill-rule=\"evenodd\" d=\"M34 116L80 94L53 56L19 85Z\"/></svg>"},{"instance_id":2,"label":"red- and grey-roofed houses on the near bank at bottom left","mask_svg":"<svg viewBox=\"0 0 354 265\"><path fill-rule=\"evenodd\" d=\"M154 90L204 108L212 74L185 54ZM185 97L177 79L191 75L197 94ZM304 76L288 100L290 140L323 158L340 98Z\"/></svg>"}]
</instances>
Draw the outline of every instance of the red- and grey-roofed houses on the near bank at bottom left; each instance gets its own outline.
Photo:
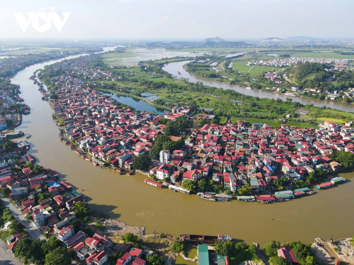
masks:
<instances>
[{"instance_id":1,"label":"red- and grey-roofed houses on the near bank at bottom left","mask_svg":"<svg viewBox=\"0 0 354 265\"><path fill-rule=\"evenodd\" d=\"M16 167L16 160L12 166ZM99 232L92 237L83 231L75 232L72 223L76 220L76 214L72 208L77 202L86 201L85 196L72 192L72 187L65 181L58 182L56 172L48 168L43 170L39 174L33 174L29 167L17 173L11 172L10 165L7 164L0 168L1 188L7 187L11 190L9 198L16 201L15 205L22 214L32 216L32 223L48 237L55 236L63 246L74 249L77 258L83 264L110 264L108 260L110 255L114 252L125 252L117 265L145 265L146 261L143 258L151 255L152 251L132 248L131 244L120 244L123 246L117 249L112 247L112 240L109 237ZM42 192L49 193L50 196L39 200L38 194ZM24 237L21 233L15 233L6 238L12 253L15 251L17 241Z\"/></svg>"}]
</instances>

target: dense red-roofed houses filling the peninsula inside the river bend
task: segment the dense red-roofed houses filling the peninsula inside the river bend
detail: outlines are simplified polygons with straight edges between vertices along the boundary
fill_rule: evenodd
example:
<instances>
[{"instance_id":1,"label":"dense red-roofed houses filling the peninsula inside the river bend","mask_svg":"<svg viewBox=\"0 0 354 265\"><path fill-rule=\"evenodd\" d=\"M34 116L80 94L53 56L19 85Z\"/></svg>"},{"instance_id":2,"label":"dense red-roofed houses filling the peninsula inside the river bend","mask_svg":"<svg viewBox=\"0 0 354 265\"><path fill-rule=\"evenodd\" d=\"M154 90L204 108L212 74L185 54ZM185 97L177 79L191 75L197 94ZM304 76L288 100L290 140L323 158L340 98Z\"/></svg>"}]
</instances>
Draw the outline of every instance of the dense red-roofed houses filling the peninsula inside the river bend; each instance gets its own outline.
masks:
<instances>
[{"instance_id":1,"label":"dense red-roofed houses filling the peninsula inside the river bend","mask_svg":"<svg viewBox=\"0 0 354 265\"><path fill-rule=\"evenodd\" d=\"M80 58L70 65L61 62L53 67L67 71L52 80L59 87L55 90L58 99L50 100L55 112L53 119L64 121L64 133L68 140L78 143L79 148L72 148L82 158L88 152L91 158L86 159L95 165L130 169L132 159L148 153L155 137L163 134L165 125L159 124L159 115L116 105L110 97L92 90L90 83L85 87L82 80L70 78L70 71L98 71L90 67L88 59ZM176 106L164 117L175 120L188 113L188 109ZM156 161L149 174L157 179L168 178L174 184L183 179L198 181L212 176L231 191L248 183L254 191L262 192L281 176L295 181L316 167L339 170L340 165L327 155L333 150L352 150L351 126L325 122L320 129L282 125L276 130L262 123L247 127L245 121L206 124L191 131L184 148L162 150L160 163Z\"/></svg>"}]
</instances>

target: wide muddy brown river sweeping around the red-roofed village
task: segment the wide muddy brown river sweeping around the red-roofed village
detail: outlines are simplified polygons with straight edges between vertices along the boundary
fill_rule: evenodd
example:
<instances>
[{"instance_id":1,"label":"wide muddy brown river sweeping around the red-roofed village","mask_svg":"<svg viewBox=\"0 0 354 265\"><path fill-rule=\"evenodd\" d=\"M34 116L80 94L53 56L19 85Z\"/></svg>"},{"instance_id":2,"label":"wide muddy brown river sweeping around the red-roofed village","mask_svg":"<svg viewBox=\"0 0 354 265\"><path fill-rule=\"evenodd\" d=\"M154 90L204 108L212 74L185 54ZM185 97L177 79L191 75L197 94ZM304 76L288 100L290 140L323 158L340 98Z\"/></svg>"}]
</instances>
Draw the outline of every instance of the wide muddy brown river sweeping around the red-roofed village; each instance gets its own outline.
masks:
<instances>
[{"instance_id":1,"label":"wide muddy brown river sweeping around the red-roofed village","mask_svg":"<svg viewBox=\"0 0 354 265\"><path fill-rule=\"evenodd\" d=\"M56 61L29 66L12 78L12 83L21 86L21 97L31 108L15 131L32 134L28 139L29 153L40 165L56 170L61 180L73 185L73 190L84 189L91 209L109 213L129 225L143 225L147 233L226 234L261 246L271 240L312 242L315 237L326 240L330 236L353 236L354 182L350 181L353 173L339 174L349 179L339 187L264 205L211 202L195 195L174 193L145 184L144 175L119 175L81 159L59 140L50 104L41 100L38 86L29 79L36 69Z\"/></svg>"}]
</instances>

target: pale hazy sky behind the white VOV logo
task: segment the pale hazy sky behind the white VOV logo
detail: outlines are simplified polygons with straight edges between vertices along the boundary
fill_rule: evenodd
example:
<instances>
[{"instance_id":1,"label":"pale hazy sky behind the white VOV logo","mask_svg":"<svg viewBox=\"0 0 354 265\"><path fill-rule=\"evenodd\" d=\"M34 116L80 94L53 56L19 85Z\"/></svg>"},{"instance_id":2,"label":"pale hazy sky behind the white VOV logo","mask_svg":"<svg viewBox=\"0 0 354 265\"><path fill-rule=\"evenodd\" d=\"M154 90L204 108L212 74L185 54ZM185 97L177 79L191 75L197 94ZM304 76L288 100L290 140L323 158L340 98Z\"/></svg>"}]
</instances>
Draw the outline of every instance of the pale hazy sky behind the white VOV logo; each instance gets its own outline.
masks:
<instances>
[{"instance_id":1,"label":"pale hazy sky behind the white VOV logo","mask_svg":"<svg viewBox=\"0 0 354 265\"><path fill-rule=\"evenodd\" d=\"M226 40L310 36L354 38L354 0L0 0L1 38ZM52 23L25 32L12 12L71 12L60 33ZM42 23L44 24L44 22ZM41 25L41 20L40 24Z\"/></svg>"}]
</instances>

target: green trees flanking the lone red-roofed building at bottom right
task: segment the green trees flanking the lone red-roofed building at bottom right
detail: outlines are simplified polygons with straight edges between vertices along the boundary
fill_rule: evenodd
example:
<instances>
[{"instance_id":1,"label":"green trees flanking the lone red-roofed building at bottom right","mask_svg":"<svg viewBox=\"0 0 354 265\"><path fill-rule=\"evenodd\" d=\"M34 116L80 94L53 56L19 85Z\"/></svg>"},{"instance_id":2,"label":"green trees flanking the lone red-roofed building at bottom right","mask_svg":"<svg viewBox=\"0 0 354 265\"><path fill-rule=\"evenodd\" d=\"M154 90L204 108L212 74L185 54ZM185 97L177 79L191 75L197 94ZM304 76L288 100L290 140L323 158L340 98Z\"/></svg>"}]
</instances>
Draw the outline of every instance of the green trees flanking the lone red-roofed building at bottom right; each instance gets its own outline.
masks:
<instances>
[{"instance_id":1,"label":"green trees flanking the lone red-roofed building at bottom right","mask_svg":"<svg viewBox=\"0 0 354 265\"><path fill-rule=\"evenodd\" d=\"M264 252L270 258L273 265L290 265L290 263L283 257L278 257L277 249L281 246L289 246L292 248L299 265L316 265L318 264L313 257L310 250L311 244L303 244L300 241L291 241L289 243L280 244L279 241L273 240L272 242L264 245Z\"/></svg>"}]
</instances>

